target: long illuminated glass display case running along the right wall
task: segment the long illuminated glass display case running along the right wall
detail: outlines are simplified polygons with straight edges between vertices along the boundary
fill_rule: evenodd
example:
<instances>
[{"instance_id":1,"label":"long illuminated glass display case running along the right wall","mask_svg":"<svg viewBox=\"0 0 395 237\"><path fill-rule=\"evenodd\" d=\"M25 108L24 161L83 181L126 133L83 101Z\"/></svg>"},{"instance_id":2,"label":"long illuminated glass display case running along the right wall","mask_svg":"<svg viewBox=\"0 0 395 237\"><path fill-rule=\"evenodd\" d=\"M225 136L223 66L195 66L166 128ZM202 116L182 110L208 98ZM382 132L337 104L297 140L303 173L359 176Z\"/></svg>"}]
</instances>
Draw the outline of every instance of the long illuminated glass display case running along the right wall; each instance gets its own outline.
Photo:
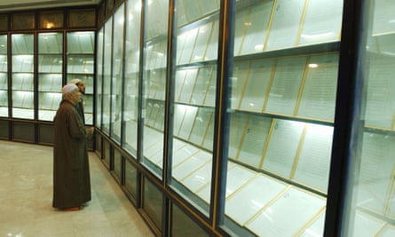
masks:
<instances>
[{"instance_id":1,"label":"long illuminated glass display case running along the right wall","mask_svg":"<svg viewBox=\"0 0 395 237\"><path fill-rule=\"evenodd\" d=\"M224 2L156 0L141 7L129 0L103 22L100 128L117 143L114 149L130 154L130 159L117 156L116 169L121 166L129 178L139 177L141 169L144 180L122 185L142 199L142 209L158 229L163 220L155 213L165 207L154 198L157 187L170 189L163 192L170 202L186 202L182 210L198 213L197 221L208 219L211 225L214 218L231 236L322 236L336 143L344 1L233 1L229 25L221 19ZM356 231L350 236L359 236L362 225L372 235L395 229L395 29L389 13L395 4L382 0L373 5L360 183L352 200ZM168 11L171 7L174 12ZM118 25L120 12L127 15L124 25ZM225 54L220 54L228 50L221 48L228 40L221 34L229 32L234 33L232 68L222 67ZM221 78L218 67L232 72L230 78ZM227 90L224 98L217 95ZM221 99L227 105L225 128L218 128ZM224 147L218 147L221 138ZM224 149L225 166L219 167ZM223 171L225 180L212 180ZM213 186L218 184L225 184L224 190ZM144 194L139 196L138 187ZM149 201L158 201L155 211ZM171 216L181 216L177 204L169 215L178 228Z\"/></svg>"}]
</instances>

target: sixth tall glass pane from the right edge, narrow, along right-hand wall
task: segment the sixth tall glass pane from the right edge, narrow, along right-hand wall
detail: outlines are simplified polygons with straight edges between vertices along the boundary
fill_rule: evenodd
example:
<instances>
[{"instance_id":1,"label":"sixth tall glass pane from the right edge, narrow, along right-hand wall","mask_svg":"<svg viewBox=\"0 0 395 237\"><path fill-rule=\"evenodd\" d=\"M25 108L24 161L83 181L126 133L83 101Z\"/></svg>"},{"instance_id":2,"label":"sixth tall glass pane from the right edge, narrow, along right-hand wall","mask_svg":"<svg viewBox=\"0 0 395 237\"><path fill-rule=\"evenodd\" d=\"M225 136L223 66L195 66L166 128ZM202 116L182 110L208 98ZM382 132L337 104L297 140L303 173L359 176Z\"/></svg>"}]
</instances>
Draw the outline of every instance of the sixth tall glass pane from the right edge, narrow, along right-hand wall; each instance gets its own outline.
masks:
<instances>
[{"instance_id":1,"label":"sixth tall glass pane from the right edge, narrow, along right-hand wall","mask_svg":"<svg viewBox=\"0 0 395 237\"><path fill-rule=\"evenodd\" d=\"M121 143L124 4L114 14L113 73L111 79L111 137Z\"/></svg>"}]
</instances>

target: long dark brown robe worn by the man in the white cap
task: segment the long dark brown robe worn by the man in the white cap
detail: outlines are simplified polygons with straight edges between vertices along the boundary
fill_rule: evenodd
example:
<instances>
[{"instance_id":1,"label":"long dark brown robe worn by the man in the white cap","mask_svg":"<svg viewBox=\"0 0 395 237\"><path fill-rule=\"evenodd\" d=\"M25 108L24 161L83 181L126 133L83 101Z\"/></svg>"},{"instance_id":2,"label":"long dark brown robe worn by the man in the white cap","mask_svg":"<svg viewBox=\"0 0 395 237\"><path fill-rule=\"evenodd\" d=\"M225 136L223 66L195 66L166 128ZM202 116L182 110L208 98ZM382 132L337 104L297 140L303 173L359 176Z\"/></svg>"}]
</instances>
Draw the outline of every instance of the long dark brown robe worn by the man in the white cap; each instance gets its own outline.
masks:
<instances>
[{"instance_id":1,"label":"long dark brown robe worn by the man in the white cap","mask_svg":"<svg viewBox=\"0 0 395 237\"><path fill-rule=\"evenodd\" d=\"M67 100L60 103L54 122L52 207L78 207L91 201L85 126Z\"/></svg>"}]
</instances>

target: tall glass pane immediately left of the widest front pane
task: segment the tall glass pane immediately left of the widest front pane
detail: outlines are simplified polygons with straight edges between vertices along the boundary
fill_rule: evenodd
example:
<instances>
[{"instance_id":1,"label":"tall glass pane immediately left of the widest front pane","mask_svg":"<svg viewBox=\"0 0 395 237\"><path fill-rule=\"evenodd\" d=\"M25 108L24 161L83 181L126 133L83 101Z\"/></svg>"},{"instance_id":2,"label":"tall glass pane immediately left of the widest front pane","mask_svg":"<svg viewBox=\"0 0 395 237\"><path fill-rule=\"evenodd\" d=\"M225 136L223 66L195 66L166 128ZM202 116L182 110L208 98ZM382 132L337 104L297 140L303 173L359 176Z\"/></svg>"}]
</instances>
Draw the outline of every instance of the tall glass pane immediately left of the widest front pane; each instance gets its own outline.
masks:
<instances>
[{"instance_id":1,"label":"tall glass pane immediately left of the widest front pane","mask_svg":"<svg viewBox=\"0 0 395 237\"><path fill-rule=\"evenodd\" d=\"M212 171L218 8L215 1L185 0L176 10L187 22L176 31L171 186L209 216L209 193L201 191L210 188Z\"/></svg>"}]
</instances>

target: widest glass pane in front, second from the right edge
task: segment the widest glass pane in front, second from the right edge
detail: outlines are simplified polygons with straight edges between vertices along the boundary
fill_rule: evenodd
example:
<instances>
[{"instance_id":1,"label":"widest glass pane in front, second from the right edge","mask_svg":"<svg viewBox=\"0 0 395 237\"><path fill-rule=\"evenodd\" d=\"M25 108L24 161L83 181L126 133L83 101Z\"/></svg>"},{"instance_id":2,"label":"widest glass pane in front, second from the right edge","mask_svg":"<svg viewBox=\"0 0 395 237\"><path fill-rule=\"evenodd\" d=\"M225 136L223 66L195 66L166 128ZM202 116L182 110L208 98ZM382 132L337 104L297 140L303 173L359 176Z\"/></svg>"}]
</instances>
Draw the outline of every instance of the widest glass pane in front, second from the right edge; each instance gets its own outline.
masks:
<instances>
[{"instance_id":1,"label":"widest glass pane in front, second from the right edge","mask_svg":"<svg viewBox=\"0 0 395 237\"><path fill-rule=\"evenodd\" d=\"M321 236L338 67L328 44L343 1L242 2L222 224L235 236Z\"/></svg>"}]
</instances>

